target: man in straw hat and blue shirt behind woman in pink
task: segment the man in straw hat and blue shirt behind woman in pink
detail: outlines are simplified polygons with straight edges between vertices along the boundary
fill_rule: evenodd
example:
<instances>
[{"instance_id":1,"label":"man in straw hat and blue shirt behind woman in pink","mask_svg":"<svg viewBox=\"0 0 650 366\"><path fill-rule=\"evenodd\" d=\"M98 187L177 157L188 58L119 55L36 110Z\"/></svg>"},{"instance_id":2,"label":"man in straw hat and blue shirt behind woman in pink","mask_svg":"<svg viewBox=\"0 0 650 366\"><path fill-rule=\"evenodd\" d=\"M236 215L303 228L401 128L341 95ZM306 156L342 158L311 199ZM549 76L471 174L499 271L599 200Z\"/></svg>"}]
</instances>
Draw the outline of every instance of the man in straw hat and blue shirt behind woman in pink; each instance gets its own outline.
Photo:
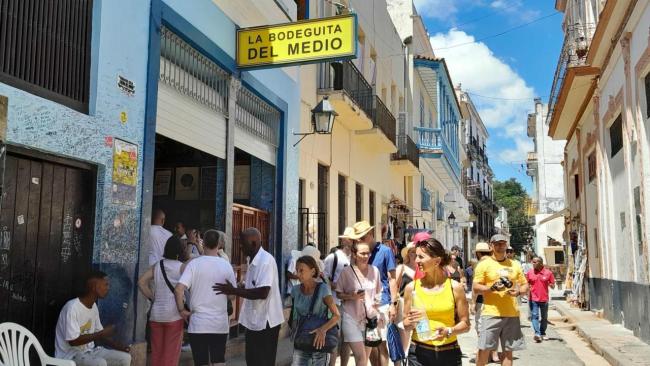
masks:
<instances>
[{"instance_id":1,"label":"man in straw hat and blue shirt behind woman in pink","mask_svg":"<svg viewBox=\"0 0 650 366\"><path fill-rule=\"evenodd\" d=\"M374 226L370 226L368 221L359 221L352 227L354 233L350 238L359 242L366 243L370 247L370 260L368 263L379 269L379 276L382 285L381 300L379 301L379 312L383 317L380 322L380 332L382 344L372 349L370 354L370 363L373 366L388 365L388 346L386 345L386 327L389 322L395 320L397 316L397 304L399 303L399 293L397 291L397 281L395 280L395 255L386 245L375 241ZM377 350L378 348L378 350Z\"/></svg>"}]
</instances>

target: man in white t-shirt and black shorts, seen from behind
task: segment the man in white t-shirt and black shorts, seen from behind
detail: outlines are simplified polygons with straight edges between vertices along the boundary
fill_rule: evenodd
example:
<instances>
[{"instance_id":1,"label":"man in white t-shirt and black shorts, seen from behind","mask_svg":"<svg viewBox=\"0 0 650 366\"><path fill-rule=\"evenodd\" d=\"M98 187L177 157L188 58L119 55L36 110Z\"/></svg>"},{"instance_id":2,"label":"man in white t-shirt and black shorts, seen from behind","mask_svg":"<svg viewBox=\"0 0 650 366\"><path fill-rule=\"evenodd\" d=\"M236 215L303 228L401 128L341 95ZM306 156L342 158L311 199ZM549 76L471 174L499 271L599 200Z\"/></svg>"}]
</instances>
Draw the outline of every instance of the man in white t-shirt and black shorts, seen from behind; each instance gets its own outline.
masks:
<instances>
[{"instance_id":1,"label":"man in white t-shirt and black shorts, seen from behind","mask_svg":"<svg viewBox=\"0 0 650 366\"><path fill-rule=\"evenodd\" d=\"M215 295L212 285L215 282L234 283L236 279L230 263L219 257L218 244L223 241L222 235L216 230L205 232L203 255L187 263L174 289L176 307L181 316L190 321L187 333L196 365L226 362L226 341L230 331L228 299L226 295ZM191 312L183 304L186 289L190 291Z\"/></svg>"}]
</instances>

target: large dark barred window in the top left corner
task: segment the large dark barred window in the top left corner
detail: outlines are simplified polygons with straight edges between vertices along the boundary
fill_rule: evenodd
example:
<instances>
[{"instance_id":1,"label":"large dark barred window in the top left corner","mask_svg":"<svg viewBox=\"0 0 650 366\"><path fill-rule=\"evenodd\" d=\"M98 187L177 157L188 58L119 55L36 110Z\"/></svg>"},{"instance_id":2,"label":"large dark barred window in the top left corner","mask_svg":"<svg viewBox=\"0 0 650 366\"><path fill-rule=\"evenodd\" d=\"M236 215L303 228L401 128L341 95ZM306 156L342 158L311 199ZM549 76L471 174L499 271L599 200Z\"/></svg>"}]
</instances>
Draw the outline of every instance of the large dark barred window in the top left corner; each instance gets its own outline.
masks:
<instances>
[{"instance_id":1,"label":"large dark barred window in the top left corner","mask_svg":"<svg viewBox=\"0 0 650 366\"><path fill-rule=\"evenodd\" d=\"M0 1L0 82L87 113L93 1L72 3Z\"/></svg>"}]
</instances>

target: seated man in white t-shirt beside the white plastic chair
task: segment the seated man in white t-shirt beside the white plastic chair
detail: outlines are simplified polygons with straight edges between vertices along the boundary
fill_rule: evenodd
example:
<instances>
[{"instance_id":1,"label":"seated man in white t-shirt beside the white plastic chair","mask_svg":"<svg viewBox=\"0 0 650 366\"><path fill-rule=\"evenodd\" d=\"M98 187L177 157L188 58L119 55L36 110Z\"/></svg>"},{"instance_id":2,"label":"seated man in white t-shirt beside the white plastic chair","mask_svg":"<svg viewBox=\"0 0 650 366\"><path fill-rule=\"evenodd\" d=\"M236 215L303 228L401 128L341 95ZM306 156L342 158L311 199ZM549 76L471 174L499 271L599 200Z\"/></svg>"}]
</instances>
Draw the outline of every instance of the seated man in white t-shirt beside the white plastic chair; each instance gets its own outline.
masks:
<instances>
[{"instance_id":1,"label":"seated man in white t-shirt beside the white plastic chair","mask_svg":"<svg viewBox=\"0 0 650 366\"><path fill-rule=\"evenodd\" d=\"M114 342L112 325L102 327L95 302L108 294L106 273L93 271L86 279L83 296L68 301L56 323L56 357L73 360L78 366L129 366L129 347ZM95 346L99 341L112 349Z\"/></svg>"}]
</instances>

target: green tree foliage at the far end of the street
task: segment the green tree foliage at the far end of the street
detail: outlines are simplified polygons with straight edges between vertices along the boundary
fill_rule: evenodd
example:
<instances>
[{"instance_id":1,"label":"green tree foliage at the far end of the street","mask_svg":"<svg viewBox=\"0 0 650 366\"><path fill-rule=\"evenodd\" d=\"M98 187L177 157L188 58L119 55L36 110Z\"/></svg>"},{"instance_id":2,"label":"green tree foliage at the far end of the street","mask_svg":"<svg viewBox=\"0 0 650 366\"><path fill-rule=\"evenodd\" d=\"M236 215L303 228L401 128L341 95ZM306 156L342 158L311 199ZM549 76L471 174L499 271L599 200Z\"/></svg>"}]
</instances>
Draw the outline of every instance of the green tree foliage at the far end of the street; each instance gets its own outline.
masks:
<instances>
[{"instance_id":1,"label":"green tree foliage at the far end of the street","mask_svg":"<svg viewBox=\"0 0 650 366\"><path fill-rule=\"evenodd\" d=\"M508 211L510 244L516 251L521 251L533 236L531 220L527 215L530 197L521 183L514 178L504 182L495 180L493 186L494 201L497 206L505 207Z\"/></svg>"}]
</instances>

